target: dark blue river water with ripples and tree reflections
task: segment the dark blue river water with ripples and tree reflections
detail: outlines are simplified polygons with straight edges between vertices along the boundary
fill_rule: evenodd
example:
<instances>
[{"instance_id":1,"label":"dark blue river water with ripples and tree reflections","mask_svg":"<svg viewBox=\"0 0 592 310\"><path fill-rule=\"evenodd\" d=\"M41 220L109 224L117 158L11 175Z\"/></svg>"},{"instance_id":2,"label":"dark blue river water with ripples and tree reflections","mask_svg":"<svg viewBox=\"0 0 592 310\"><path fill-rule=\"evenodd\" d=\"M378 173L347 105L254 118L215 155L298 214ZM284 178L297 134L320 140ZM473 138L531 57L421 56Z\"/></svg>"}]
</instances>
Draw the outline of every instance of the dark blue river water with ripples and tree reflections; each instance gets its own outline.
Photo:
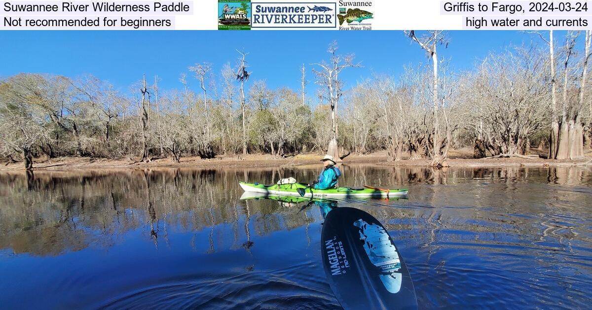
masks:
<instances>
[{"instance_id":1,"label":"dark blue river water with ripples and tree reflections","mask_svg":"<svg viewBox=\"0 0 592 310\"><path fill-rule=\"evenodd\" d=\"M0 174L0 307L339 308L320 208L240 200L237 184L319 170ZM590 168L342 170L342 186L409 188L336 204L387 227L420 308L589 309Z\"/></svg>"}]
</instances>

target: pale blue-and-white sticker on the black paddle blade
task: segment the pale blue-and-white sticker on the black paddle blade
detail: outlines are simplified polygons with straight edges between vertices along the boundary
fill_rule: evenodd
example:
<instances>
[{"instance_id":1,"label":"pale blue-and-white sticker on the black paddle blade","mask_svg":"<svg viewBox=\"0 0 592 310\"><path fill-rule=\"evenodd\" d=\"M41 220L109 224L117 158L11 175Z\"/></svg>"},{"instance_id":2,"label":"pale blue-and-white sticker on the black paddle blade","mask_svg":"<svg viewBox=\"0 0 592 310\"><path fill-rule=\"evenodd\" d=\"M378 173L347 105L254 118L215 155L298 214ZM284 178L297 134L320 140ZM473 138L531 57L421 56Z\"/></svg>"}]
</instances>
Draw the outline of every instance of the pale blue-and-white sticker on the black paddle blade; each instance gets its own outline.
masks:
<instances>
[{"instance_id":1,"label":"pale blue-and-white sticker on the black paddle blade","mask_svg":"<svg viewBox=\"0 0 592 310\"><path fill-rule=\"evenodd\" d=\"M391 293L400 291L403 280L403 275L398 272L401 269L401 260L387 231L362 219L353 222L353 226L360 229L360 240L364 243L370 262L380 268L379 276L384 287Z\"/></svg>"}]
</instances>

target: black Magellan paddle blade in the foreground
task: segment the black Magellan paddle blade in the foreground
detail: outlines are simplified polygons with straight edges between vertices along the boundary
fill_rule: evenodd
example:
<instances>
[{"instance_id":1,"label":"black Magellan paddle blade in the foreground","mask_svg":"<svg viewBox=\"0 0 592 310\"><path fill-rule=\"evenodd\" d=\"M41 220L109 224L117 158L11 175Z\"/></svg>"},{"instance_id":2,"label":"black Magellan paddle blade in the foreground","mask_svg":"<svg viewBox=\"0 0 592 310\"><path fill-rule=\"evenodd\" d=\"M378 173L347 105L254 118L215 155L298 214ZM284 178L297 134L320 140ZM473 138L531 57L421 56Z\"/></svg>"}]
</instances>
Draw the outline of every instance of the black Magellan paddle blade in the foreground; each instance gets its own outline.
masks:
<instances>
[{"instance_id":1,"label":"black Magellan paddle blade in the foreground","mask_svg":"<svg viewBox=\"0 0 592 310\"><path fill-rule=\"evenodd\" d=\"M321 234L329 285L345 309L417 309L407 266L387 230L370 214L339 207Z\"/></svg>"}]
</instances>

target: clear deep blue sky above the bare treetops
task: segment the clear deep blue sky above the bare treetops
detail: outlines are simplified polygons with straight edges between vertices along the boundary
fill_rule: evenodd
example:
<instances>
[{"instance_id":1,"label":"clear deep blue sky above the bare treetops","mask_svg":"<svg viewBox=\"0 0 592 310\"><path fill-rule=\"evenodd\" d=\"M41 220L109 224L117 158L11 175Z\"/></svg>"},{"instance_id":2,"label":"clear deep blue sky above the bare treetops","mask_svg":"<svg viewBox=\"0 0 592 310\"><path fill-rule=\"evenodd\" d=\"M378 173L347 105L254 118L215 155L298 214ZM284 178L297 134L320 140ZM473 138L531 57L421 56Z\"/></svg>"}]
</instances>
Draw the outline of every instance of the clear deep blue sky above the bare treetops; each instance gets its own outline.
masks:
<instances>
[{"instance_id":1,"label":"clear deep blue sky above the bare treetops","mask_svg":"<svg viewBox=\"0 0 592 310\"><path fill-rule=\"evenodd\" d=\"M562 35L556 34L556 44ZM449 36L448 48L440 53L451 58L456 70L509 45L544 44L536 35L518 31L450 31ZM427 60L402 31L0 31L0 77L21 72L92 74L127 92L146 73L159 76L161 89L181 89L179 76L188 73L189 66L214 63L219 75L227 61L234 66L238 48L249 52L252 79L265 79L271 88L298 89L302 64L326 59L333 40L340 53L355 53L363 66L342 75L346 88L373 72L398 75L403 66ZM307 70L307 79L313 81L310 66ZM197 81L190 79L190 86L197 90ZM307 92L315 87L310 83Z\"/></svg>"}]
</instances>

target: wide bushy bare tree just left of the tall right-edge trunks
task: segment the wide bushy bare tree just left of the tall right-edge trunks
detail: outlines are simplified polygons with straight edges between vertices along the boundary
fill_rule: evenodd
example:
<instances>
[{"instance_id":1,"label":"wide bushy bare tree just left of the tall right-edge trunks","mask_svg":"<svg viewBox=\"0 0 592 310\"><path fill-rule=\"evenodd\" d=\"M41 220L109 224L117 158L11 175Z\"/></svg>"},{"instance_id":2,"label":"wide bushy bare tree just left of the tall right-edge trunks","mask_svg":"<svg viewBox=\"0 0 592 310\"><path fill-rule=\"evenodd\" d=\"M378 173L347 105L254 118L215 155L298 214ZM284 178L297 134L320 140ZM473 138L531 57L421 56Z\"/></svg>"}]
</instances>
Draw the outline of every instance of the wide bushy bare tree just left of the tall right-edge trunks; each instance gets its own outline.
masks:
<instances>
[{"instance_id":1,"label":"wide bushy bare tree just left of the tall right-edge trunks","mask_svg":"<svg viewBox=\"0 0 592 310\"><path fill-rule=\"evenodd\" d=\"M524 156L527 141L548 119L545 60L533 49L491 54L459 85L462 122L494 157Z\"/></svg>"}]
</instances>

